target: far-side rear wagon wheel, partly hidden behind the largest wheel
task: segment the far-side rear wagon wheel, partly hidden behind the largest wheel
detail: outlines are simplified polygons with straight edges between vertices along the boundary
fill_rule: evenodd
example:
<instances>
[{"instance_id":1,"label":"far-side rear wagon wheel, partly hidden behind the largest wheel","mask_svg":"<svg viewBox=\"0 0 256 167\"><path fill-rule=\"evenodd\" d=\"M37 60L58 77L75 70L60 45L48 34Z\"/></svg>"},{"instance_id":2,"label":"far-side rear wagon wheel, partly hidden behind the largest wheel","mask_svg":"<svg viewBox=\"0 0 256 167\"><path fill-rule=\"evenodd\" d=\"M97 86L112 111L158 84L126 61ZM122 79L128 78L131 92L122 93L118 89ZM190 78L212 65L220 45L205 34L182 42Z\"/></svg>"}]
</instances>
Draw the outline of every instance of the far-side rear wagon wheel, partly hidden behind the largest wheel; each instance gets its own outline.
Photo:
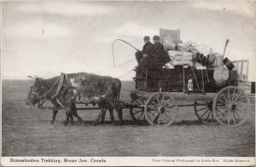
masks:
<instances>
[{"instance_id":1,"label":"far-side rear wagon wheel, partly hidden behind the largest wheel","mask_svg":"<svg viewBox=\"0 0 256 167\"><path fill-rule=\"evenodd\" d=\"M194 110L195 116L199 119L201 123L204 124L216 124L216 120L213 111L212 111L212 101L195 101Z\"/></svg>"}]
</instances>

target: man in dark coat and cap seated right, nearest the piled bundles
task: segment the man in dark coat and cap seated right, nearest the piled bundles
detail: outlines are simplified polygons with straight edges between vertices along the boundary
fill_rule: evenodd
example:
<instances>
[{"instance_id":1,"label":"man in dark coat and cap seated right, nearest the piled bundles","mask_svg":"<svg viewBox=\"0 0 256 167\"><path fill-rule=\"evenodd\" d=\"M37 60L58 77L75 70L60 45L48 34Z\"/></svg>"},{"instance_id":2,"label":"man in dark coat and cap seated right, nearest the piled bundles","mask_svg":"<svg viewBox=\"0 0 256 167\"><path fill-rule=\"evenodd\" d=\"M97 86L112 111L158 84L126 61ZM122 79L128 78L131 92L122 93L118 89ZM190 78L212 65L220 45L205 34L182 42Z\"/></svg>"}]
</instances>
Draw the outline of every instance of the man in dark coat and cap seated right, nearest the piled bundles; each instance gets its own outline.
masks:
<instances>
[{"instance_id":1,"label":"man in dark coat and cap seated right, nearest the piled bundles","mask_svg":"<svg viewBox=\"0 0 256 167\"><path fill-rule=\"evenodd\" d=\"M165 65L170 58L166 53L164 46L160 43L160 37L154 36L154 48L148 53L148 56L144 57L141 61L140 71L142 76L145 75L146 68L155 69Z\"/></svg>"}]
</instances>

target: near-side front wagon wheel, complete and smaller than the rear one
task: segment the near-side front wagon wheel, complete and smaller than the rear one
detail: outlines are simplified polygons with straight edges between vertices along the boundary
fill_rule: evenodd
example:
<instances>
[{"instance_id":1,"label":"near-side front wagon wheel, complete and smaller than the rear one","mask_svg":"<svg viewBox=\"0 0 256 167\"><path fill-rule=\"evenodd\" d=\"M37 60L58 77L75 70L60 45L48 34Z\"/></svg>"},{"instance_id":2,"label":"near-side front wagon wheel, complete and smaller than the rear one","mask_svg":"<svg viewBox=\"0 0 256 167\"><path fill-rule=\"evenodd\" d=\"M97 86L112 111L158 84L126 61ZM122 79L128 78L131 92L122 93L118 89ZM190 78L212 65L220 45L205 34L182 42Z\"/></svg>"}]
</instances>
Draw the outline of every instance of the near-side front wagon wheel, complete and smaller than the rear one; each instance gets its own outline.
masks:
<instances>
[{"instance_id":1,"label":"near-side front wagon wheel, complete and smaller than the rear one","mask_svg":"<svg viewBox=\"0 0 256 167\"><path fill-rule=\"evenodd\" d=\"M155 93L146 101L144 111L149 124L170 125L177 116L177 104L171 94Z\"/></svg>"}]
</instances>

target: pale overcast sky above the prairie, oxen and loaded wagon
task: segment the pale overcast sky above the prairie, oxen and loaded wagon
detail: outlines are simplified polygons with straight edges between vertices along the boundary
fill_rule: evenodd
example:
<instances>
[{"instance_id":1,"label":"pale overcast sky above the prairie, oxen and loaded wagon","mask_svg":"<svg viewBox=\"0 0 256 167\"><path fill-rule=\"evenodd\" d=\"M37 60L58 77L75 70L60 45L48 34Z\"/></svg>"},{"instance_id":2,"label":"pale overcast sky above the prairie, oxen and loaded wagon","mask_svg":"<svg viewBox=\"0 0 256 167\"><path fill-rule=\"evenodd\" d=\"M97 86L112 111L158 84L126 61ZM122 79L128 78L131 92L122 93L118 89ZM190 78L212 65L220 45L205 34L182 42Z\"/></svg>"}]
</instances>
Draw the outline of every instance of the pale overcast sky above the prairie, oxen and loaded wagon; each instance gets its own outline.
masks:
<instances>
[{"instance_id":1,"label":"pale overcast sky above the prairie, oxen and loaded wagon","mask_svg":"<svg viewBox=\"0 0 256 167\"><path fill-rule=\"evenodd\" d=\"M2 5L2 78L50 78L60 72L96 72L113 67L112 42L122 38L138 49L160 28L180 29L183 41L205 43L230 60L250 60L255 80L256 26L252 4L212 2L8 2ZM255 23L255 22L254 22ZM135 50L114 45L119 65ZM120 77L136 60L100 75ZM253 76L254 75L254 76ZM131 80L134 72L123 80Z\"/></svg>"}]
</instances>

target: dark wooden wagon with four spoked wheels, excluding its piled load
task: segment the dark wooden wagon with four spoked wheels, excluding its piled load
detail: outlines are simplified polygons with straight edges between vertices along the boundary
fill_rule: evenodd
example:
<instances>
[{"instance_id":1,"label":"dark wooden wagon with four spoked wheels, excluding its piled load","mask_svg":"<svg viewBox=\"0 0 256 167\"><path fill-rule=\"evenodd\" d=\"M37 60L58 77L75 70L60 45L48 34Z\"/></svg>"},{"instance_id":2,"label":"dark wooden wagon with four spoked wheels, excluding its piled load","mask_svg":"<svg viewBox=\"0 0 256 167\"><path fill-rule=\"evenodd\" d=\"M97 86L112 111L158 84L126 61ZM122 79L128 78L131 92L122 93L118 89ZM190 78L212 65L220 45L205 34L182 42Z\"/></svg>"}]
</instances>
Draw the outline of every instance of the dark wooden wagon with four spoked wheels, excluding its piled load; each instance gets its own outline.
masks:
<instances>
[{"instance_id":1,"label":"dark wooden wagon with four spoked wheels, excluding its piled load","mask_svg":"<svg viewBox=\"0 0 256 167\"><path fill-rule=\"evenodd\" d=\"M131 91L131 118L146 118L149 124L170 125L180 107L194 107L201 123L238 126L247 119L250 99L237 87L237 72L229 71L227 81L219 86L214 70L176 66L174 69L147 69L146 76L133 78L136 89ZM189 78L194 88L188 89ZM192 101L192 102L189 102Z\"/></svg>"}]
</instances>

